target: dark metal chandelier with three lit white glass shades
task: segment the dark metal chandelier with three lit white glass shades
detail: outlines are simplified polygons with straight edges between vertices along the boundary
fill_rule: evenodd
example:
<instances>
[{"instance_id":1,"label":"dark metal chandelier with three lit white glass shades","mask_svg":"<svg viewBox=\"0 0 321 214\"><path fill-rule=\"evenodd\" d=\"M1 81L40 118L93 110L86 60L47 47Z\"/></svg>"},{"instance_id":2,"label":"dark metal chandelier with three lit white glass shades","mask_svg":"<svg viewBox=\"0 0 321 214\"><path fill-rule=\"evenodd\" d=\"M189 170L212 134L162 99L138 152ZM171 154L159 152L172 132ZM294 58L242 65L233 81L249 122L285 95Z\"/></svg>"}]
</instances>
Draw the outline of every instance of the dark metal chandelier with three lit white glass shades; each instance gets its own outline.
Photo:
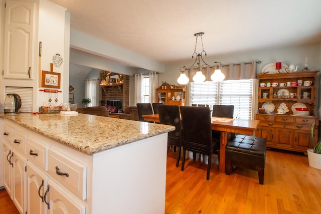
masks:
<instances>
[{"instance_id":1,"label":"dark metal chandelier with three lit white glass shades","mask_svg":"<svg viewBox=\"0 0 321 214\"><path fill-rule=\"evenodd\" d=\"M209 65L203 60L203 54L206 56L206 52L205 52L204 47L203 47L203 39L202 39L203 35L204 35L204 32L200 32L200 33L194 34L194 36L196 37L196 42L195 42L195 49L194 49L194 53L192 55L192 59L194 58L194 56L196 56L196 59L195 59L193 65L191 67L187 68L186 66L183 66L180 69L181 75L177 79L177 82L179 84L181 84L181 85L185 85L190 81L190 79L186 76L185 72L189 71L191 69L197 69L196 75L193 77L193 81L197 82L197 83L205 81L206 77L202 74L202 69L206 68L206 67L215 68L215 71L211 76L211 80L212 81L219 82L219 81L223 81L224 78L225 78L225 75L220 70L220 67L222 66L222 63L214 62L214 65ZM202 42L202 52L201 53L196 53L197 39L199 37L201 38L201 42ZM201 65L201 63L202 63L202 65Z\"/></svg>"}]
</instances>

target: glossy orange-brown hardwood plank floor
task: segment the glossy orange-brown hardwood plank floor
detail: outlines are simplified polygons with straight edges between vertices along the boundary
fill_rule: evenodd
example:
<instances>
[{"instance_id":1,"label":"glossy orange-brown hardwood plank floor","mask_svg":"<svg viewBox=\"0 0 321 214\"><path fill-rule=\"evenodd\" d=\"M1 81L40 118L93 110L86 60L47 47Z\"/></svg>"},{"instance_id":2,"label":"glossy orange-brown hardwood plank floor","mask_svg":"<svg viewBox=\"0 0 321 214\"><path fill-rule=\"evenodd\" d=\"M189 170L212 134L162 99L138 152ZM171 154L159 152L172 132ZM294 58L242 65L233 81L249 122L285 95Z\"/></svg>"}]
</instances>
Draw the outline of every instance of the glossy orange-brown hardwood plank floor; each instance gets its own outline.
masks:
<instances>
[{"instance_id":1,"label":"glossy orange-brown hardwood plank floor","mask_svg":"<svg viewBox=\"0 0 321 214\"><path fill-rule=\"evenodd\" d=\"M188 154L185 170L175 167L176 153L167 158L166 205L168 214L178 213L321 213L321 170L308 166L302 153L268 150L264 185L256 171L235 169L218 172L212 156L210 180L206 180L207 157ZM205 163L204 163L205 161ZM5 190L0 190L0 214L18 213Z\"/></svg>"}]
</instances>

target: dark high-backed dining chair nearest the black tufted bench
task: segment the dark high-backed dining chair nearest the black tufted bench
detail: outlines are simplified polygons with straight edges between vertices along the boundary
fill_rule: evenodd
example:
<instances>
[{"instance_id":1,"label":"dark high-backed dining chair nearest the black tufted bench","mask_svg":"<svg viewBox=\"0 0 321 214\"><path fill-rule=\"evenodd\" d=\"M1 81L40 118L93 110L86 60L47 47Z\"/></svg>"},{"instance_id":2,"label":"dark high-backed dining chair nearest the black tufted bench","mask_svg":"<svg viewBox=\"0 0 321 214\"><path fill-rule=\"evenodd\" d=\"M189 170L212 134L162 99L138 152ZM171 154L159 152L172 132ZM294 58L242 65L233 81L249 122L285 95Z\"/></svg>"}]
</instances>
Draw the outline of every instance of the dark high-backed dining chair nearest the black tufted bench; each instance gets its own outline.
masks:
<instances>
[{"instance_id":1,"label":"dark high-backed dining chair nearest the black tufted bench","mask_svg":"<svg viewBox=\"0 0 321 214\"><path fill-rule=\"evenodd\" d=\"M182 168L184 171L186 151L200 153L208 156L206 179L210 179L211 157L213 154L212 124L210 108L194 106L181 106L182 134L183 134L183 158ZM193 155L193 159L196 156Z\"/></svg>"}]
</instances>

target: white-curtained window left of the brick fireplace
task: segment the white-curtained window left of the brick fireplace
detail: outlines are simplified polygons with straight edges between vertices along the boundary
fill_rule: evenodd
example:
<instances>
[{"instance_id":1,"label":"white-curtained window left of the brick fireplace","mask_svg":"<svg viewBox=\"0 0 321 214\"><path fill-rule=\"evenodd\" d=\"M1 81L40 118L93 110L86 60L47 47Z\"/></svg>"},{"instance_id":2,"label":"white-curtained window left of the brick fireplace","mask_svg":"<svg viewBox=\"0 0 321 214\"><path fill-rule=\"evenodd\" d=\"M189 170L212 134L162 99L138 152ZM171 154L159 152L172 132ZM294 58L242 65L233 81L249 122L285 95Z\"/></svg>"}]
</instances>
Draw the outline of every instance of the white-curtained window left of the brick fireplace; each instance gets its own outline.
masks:
<instances>
[{"instance_id":1,"label":"white-curtained window left of the brick fireplace","mask_svg":"<svg viewBox=\"0 0 321 214\"><path fill-rule=\"evenodd\" d=\"M99 79L85 80L85 98L90 98L88 107L99 106Z\"/></svg>"}]
</instances>

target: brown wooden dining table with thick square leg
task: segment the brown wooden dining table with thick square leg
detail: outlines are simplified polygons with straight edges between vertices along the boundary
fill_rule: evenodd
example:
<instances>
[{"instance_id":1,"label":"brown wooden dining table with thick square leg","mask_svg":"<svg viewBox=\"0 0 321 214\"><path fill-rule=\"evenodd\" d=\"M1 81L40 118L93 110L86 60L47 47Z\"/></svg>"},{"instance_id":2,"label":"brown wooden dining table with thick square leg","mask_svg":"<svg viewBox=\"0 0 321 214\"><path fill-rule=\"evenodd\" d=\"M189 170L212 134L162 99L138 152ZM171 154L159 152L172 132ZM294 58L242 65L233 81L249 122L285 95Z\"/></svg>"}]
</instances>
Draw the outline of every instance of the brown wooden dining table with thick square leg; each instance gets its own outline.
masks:
<instances>
[{"instance_id":1,"label":"brown wooden dining table with thick square leg","mask_svg":"<svg viewBox=\"0 0 321 214\"><path fill-rule=\"evenodd\" d=\"M159 123L158 114L142 115L145 121ZM234 134L253 135L259 120L211 117L212 130L221 131L219 171L225 172L225 147Z\"/></svg>"}]
</instances>

